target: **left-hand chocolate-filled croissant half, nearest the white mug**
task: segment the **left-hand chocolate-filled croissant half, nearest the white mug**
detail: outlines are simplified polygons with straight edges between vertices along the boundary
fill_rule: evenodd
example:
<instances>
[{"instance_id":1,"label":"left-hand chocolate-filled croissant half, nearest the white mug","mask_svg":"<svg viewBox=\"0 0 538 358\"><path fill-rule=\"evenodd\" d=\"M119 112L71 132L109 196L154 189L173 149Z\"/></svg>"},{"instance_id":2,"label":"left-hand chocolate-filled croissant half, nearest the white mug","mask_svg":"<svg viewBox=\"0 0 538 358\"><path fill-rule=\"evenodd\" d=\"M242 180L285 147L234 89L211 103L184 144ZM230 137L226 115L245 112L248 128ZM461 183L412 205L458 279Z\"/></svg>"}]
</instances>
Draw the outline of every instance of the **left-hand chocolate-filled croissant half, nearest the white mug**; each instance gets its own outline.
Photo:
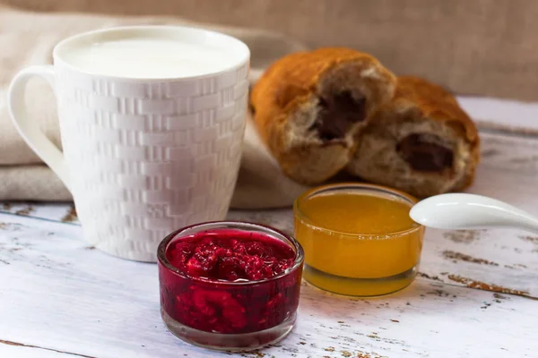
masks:
<instances>
[{"instance_id":1,"label":"left-hand chocolate-filled croissant half, nearest the white mug","mask_svg":"<svg viewBox=\"0 0 538 358\"><path fill-rule=\"evenodd\" d=\"M371 55L320 48L274 63L256 82L250 106L283 173L317 184L349 164L358 132L393 98L395 83Z\"/></svg>"}]
</instances>

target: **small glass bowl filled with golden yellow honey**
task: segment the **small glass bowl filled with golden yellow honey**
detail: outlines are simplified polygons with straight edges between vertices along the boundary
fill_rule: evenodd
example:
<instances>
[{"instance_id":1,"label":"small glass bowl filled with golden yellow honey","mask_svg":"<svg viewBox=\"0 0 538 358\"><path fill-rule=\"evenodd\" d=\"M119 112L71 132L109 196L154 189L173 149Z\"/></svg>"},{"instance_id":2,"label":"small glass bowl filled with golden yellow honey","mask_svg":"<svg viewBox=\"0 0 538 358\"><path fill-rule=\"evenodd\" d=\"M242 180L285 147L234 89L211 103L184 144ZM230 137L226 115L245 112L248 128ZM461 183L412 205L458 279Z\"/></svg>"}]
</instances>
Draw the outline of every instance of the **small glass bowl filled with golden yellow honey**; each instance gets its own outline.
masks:
<instances>
[{"instance_id":1,"label":"small glass bowl filled with golden yellow honey","mask_svg":"<svg viewBox=\"0 0 538 358\"><path fill-rule=\"evenodd\" d=\"M293 210L305 280L351 296L390 294L410 285L424 236L424 226L409 217L417 201L366 183L329 184L300 195Z\"/></svg>"}]
</instances>

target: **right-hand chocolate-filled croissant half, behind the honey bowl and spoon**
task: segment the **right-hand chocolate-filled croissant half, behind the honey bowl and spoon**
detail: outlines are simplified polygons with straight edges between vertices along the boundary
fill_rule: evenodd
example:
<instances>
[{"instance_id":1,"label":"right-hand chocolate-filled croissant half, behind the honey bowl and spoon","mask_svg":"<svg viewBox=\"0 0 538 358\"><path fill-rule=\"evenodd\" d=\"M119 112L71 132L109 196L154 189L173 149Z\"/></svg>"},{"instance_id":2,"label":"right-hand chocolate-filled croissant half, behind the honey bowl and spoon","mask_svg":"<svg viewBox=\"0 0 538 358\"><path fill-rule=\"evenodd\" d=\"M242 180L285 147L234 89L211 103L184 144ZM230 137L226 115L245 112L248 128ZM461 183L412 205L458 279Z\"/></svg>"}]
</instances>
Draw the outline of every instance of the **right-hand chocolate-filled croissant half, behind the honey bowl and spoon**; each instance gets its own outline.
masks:
<instances>
[{"instance_id":1,"label":"right-hand chocolate-filled croissant half, behind the honey bowl and spoon","mask_svg":"<svg viewBox=\"0 0 538 358\"><path fill-rule=\"evenodd\" d=\"M356 140L352 175L417 197L464 190L480 159L477 129L456 98L410 76L397 79L395 98Z\"/></svg>"}]
</instances>

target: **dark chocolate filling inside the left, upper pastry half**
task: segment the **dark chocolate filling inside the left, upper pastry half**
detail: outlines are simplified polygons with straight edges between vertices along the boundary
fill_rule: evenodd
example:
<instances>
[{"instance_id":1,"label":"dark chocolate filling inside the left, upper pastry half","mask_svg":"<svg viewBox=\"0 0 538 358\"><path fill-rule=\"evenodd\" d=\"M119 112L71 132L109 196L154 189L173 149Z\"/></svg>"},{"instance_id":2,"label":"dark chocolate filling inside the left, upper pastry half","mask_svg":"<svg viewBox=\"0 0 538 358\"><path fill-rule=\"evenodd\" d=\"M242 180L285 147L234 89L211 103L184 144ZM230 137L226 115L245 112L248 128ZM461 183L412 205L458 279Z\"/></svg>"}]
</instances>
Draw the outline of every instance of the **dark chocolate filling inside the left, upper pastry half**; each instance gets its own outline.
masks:
<instances>
[{"instance_id":1,"label":"dark chocolate filling inside the left, upper pastry half","mask_svg":"<svg viewBox=\"0 0 538 358\"><path fill-rule=\"evenodd\" d=\"M352 124L366 118L366 98L353 98L349 91L320 97L318 107L316 122L310 129L316 130L322 141L343 138Z\"/></svg>"}]
</instances>

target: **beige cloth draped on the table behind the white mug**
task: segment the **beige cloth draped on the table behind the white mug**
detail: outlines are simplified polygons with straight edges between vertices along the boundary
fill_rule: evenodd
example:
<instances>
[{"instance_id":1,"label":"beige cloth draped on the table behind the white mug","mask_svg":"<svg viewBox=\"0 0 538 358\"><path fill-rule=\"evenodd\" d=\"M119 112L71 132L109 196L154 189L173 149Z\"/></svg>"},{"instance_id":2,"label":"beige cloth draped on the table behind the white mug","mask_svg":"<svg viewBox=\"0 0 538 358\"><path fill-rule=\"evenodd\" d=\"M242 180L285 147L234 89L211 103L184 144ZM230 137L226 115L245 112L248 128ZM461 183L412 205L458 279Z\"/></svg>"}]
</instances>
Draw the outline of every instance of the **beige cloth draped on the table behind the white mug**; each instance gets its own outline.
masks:
<instances>
[{"instance_id":1,"label":"beige cloth draped on the table behind the white mug","mask_svg":"<svg viewBox=\"0 0 538 358\"><path fill-rule=\"evenodd\" d=\"M193 24L178 18L91 16L82 14L24 13L0 5L0 200L71 200L56 175L44 166L16 132L6 110L6 90L13 75L31 64L50 64L52 48L75 33L133 24ZM250 47L251 80L274 60L302 49L278 34L203 26L240 38ZM48 137L60 145L55 98L48 85L30 83L27 102ZM239 181L232 200L234 208L268 208L290 205L305 188L291 182L273 160L248 118ZM256 198L256 200L255 200Z\"/></svg>"}]
</instances>

